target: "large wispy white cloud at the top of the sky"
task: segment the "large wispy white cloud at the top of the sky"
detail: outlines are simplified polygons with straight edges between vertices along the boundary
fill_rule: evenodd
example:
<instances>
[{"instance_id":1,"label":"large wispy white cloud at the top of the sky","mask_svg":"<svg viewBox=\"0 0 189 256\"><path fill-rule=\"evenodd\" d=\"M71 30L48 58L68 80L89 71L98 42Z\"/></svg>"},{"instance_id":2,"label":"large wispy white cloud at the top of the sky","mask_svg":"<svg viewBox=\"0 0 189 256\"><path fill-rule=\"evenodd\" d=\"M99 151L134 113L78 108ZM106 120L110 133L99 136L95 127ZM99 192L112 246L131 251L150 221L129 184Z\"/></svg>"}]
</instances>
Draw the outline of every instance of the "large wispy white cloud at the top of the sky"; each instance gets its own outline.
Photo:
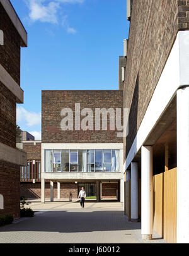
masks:
<instances>
[{"instance_id":1,"label":"large wispy white cloud at the top of the sky","mask_svg":"<svg viewBox=\"0 0 189 256\"><path fill-rule=\"evenodd\" d=\"M60 8L59 3L50 2L45 5L43 0L30 0L29 9L30 9L30 19L32 21L42 21L49 23L58 23L57 19L57 10Z\"/></svg>"}]
</instances>

